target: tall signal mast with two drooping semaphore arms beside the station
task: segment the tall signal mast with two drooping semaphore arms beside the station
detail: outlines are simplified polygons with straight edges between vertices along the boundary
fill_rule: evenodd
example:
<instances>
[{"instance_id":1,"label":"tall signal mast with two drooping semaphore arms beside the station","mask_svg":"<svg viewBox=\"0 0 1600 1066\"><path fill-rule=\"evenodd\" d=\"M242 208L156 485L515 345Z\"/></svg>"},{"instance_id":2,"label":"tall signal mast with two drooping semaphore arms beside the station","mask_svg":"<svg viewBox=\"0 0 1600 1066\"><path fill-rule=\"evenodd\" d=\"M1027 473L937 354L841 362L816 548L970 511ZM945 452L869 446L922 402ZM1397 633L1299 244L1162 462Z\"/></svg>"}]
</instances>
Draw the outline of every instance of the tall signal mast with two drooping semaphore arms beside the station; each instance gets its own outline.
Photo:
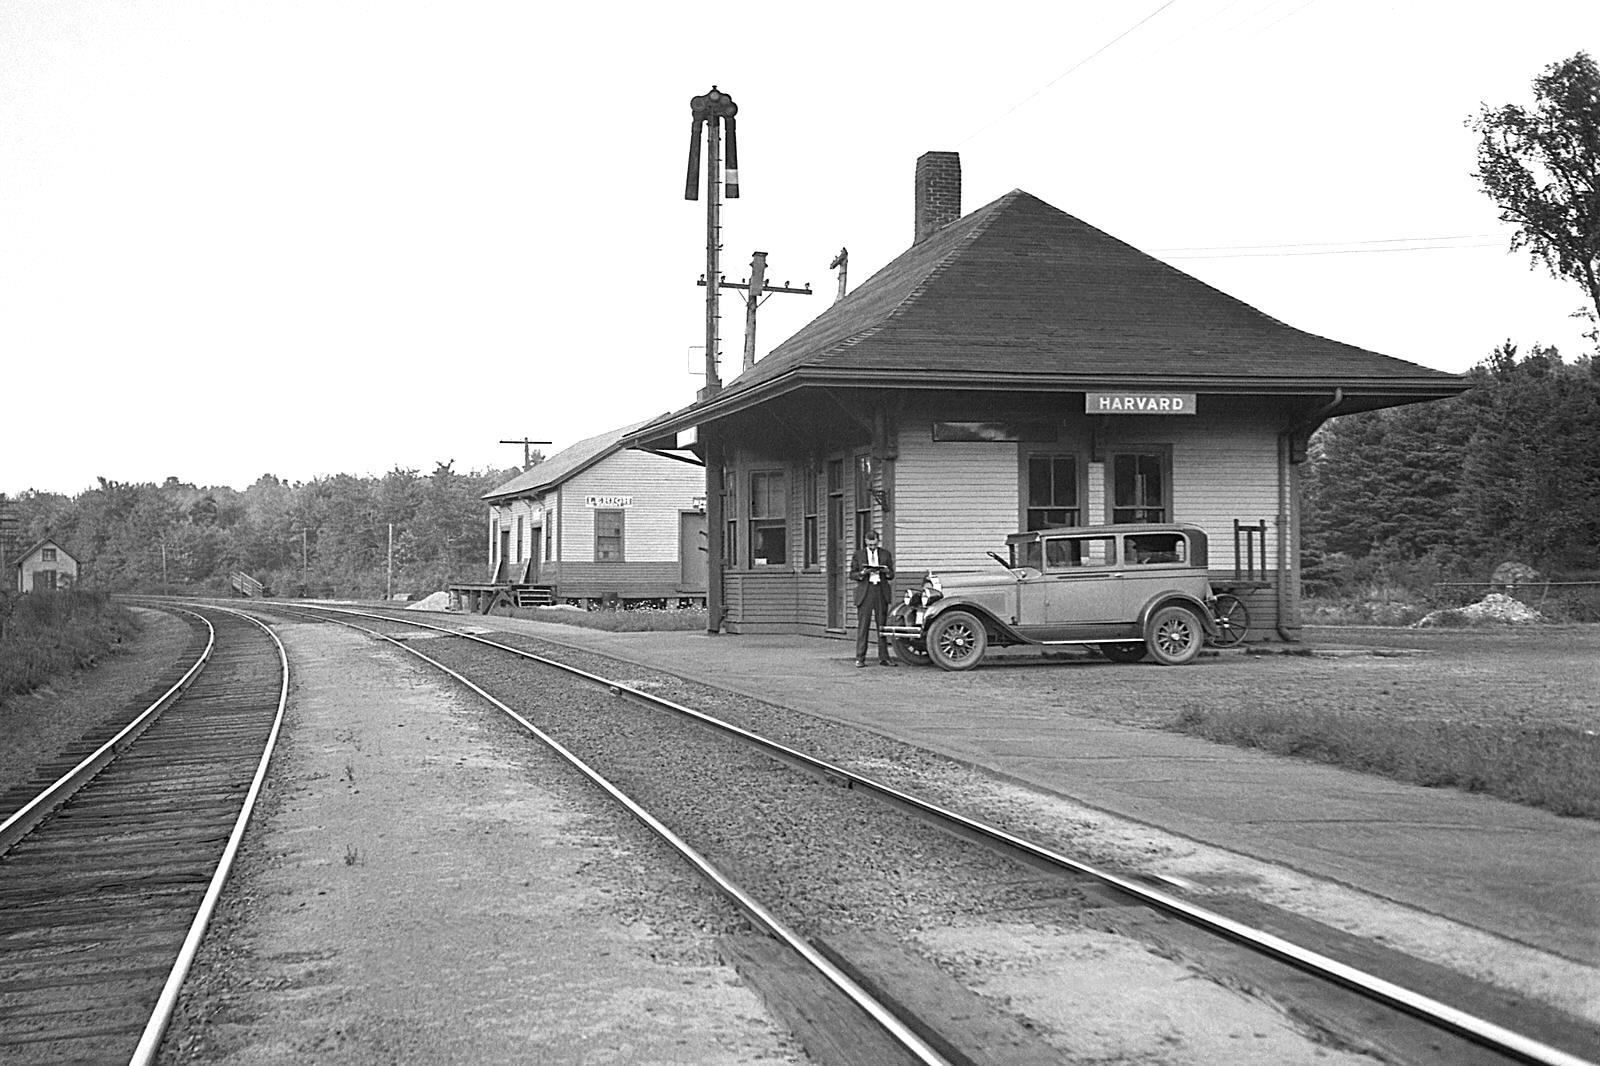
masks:
<instances>
[{"instance_id":1,"label":"tall signal mast with two drooping semaphore arms beside the station","mask_svg":"<svg viewBox=\"0 0 1600 1066\"><path fill-rule=\"evenodd\" d=\"M701 128L706 128L706 387L698 400L709 400L722 392L717 376L717 296L722 272L717 256L722 251L722 126L728 126L728 198L739 195L739 147L734 115L739 106L715 85L704 96L690 99L690 173L683 184L685 200L699 200L699 150ZM706 448L706 632L722 629L722 568L723 568L723 477L722 447L709 426L701 426L701 443Z\"/></svg>"}]
</instances>

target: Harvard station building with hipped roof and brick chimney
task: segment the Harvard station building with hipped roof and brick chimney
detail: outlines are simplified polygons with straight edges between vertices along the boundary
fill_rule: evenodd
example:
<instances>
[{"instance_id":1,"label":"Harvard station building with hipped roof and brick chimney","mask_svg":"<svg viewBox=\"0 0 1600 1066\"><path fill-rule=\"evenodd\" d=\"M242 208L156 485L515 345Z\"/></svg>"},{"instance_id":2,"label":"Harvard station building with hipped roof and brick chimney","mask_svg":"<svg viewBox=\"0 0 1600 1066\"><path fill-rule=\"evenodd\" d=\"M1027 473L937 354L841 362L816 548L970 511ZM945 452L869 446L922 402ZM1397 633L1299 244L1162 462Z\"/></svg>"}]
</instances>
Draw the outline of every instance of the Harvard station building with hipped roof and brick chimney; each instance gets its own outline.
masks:
<instances>
[{"instance_id":1,"label":"Harvard station building with hipped roof and brick chimney","mask_svg":"<svg viewBox=\"0 0 1600 1066\"><path fill-rule=\"evenodd\" d=\"M992 568L1019 530L1189 522L1251 639L1293 639L1310 434L1469 387L1296 330L1019 189L963 216L954 152L917 162L914 219L866 283L622 440L706 459L728 632L843 635L867 528L904 587Z\"/></svg>"}]
</instances>

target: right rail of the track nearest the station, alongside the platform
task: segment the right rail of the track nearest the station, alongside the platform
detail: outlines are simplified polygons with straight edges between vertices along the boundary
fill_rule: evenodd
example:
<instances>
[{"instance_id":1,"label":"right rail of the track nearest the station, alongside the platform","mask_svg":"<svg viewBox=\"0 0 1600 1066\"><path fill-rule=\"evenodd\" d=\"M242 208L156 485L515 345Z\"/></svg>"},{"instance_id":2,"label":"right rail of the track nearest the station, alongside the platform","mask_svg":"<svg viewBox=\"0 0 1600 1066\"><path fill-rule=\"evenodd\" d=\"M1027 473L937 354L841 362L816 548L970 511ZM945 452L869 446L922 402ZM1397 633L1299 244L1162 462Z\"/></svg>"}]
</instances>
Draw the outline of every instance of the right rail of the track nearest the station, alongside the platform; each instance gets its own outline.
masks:
<instances>
[{"instance_id":1,"label":"right rail of the track nearest the station, alongside the platform","mask_svg":"<svg viewBox=\"0 0 1600 1066\"><path fill-rule=\"evenodd\" d=\"M1029 858L1034 858L1037 861L1048 863L1051 866L1067 869L1074 874L1099 880L1101 884L1125 892L1126 895L1139 900L1147 906L1178 916L1192 925L1206 928L1219 936L1253 948L1254 951L1259 951L1280 962L1286 962L1291 967L1299 968L1306 973L1312 973L1326 981L1360 992L1368 999L1394 1007L1395 1010L1402 1010L1414 1018L1421 1018L1434 1026L1438 1026L1440 1029L1454 1032L1456 1036L1466 1037L1475 1044L1499 1052L1515 1061L1531 1063L1534 1066L1600 1066L1597 1063L1592 1063L1590 1060L1571 1055L1570 1052L1550 1047L1549 1044L1534 1040L1533 1037L1494 1024L1493 1021L1486 1021L1483 1018L1470 1015L1464 1010L1443 1004L1429 996L1422 996L1421 992L1414 992L1392 981L1386 981L1384 978L1379 978L1376 975L1366 973L1365 970L1339 962L1338 959L1331 959L1322 952L1294 944L1288 940L1283 940L1282 936L1267 933L1266 930L1258 930L1254 927L1245 925L1243 922L1237 922L1230 917L1226 917L1206 908L1197 906L1186 900L1179 900L1178 896L1168 895L1158 888L1150 888L1149 885L1142 885L1133 879L1099 869L1098 866L1091 866L1080 860L1054 852L1053 848L1034 844L1011 832L1006 832L1005 829L1000 829L997 826L990 826L974 818L968 818L966 815L952 812L947 807L941 807L930 800L915 797L909 792L902 792L901 789L896 789L890 784L883 784L880 781L859 775L853 770L846 770L837 763L827 762L826 759L816 759L814 755L808 755L802 751L789 747L787 744L781 744L778 741L760 736L758 733L752 733L746 728L733 725L731 722L723 722L722 719L704 714L702 711L685 707L662 696L656 696L653 693L632 688L630 685L626 685L622 682L600 677L597 674L590 674L574 666L568 666L565 663L558 663L555 659L547 659L541 655L534 655L533 651L526 651L523 648L514 648L510 645L504 645L496 640L488 640L486 637L480 637L470 632L462 632L459 629L450 629L446 626L434 626L430 623L413 621L410 618L392 618L389 615L374 615L371 611L358 611L352 608L314 608L314 610L358 615L363 618L416 626L419 629L432 629L454 637L464 637L467 640L499 648L502 651L509 651L520 658L533 659L536 663L552 666L568 674L584 677L598 685L605 685L613 691L626 693L630 698L640 699L651 706L664 707L677 714L691 717L723 733L746 739L778 757L808 767L818 773L826 773L840 778L846 783L846 787L853 789L859 787L869 791L875 795L901 804L910 810L915 810L934 820L955 824L965 832L974 834L978 837L1003 845L1006 848L1021 852L1022 855L1027 855ZM398 640L395 640L394 643L405 647L405 643ZM550 642L550 643L560 643L560 642ZM584 651L587 655L602 655L573 645L562 645L562 647L570 647L574 651ZM411 648L406 650L410 651Z\"/></svg>"}]
</instances>

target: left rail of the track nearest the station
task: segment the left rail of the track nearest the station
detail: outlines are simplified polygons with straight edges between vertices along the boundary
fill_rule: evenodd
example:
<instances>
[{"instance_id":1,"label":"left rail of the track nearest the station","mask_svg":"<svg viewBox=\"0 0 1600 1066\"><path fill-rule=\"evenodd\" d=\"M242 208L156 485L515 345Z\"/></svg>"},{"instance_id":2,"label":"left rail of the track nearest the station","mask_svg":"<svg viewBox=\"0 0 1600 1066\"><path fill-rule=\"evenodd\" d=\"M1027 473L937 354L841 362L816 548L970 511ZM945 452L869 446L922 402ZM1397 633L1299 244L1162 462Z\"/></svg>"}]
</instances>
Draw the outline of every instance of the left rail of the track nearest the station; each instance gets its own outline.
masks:
<instances>
[{"instance_id":1,"label":"left rail of the track nearest the station","mask_svg":"<svg viewBox=\"0 0 1600 1066\"><path fill-rule=\"evenodd\" d=\"M302 607L302 605L296 603L294 607ZM330 608L312 608L312 610L325 610L326 611ZM395 619L387 619L387 618L384 618L381 615L366 615L363 611L336 611L336 613L352 613L352 615L362 615L365 618L374 618L374 619L379 619L379 621L395 621ZM794 928L790 928L782 919L779 919L776 914L773 914L771 911L768 911L758 900L755 900L749 892L746 892L738 882L734 882L731 877L728 877L726 874L723 874L710 860L707 860L704 855L701 855L698 850L694 850L694 847L691 847L686 840L683 840L678 834L675 834L670 828L667 828L654 815L651 815L648 810L645 810L643 807L640 807L638 802L635 802L630 795L627 795L624 791L621 791L619 787L616 787L598 770L595 770L594 767L590 767L589 763L586 763L574 752L568 751L554 736L550 736L549 733L546 733L544 730L541 730L538 725L534 725L533 722L530 722L520 712L514 711L512 707L506 706L502 701L496 699L493 695L490 695L488 691L485 691L483 688L480 688L475 682L472 682L470 679L467 679L461 672L451 669L450 666L445 666L438 659L434 659L434 658L424 655L422 651L418 651L416 648L406 645L403 640L397 640L395 637L392 637L389 634L378 632L376 629L366 629L365 626L357 626L355 623L350 623L350 621L344 621L344 619L338 619L338 618L333 619L333 621L336 621L341 626L349 626L350 629L355 629L358 632L365 632L365 634L368 634L371 637L376 637L379 640L386 640L386 642L395 645L397 648L402 648L403 651L408 651L408 653L414 655L416 658L422 659L429 666L432 666L432 667L438 669L440 672L446 674L448 677L454 679L456 682L459 682L462 687L469 688L475 695L482 696L486 703L493 704L502 714L506 714L514 722L517 722L525 730L528 730L528 733L531 733L533 736L536 736L546 747L549 747L557 755L560 755L563 760L566 760L574 770L578 770L579 773L582 773L594 784L597 784L602 791L605 791L608 795L611 795L611 799L614 799L618 804L621 804L634 818L637 818L640 823L643 823L646 828L650 828L651 832L654 832L658 837L661 837L669 847L672 847L672 850L675 850L694 869L698 869L701 872L701 876L706 877L706 880L709 880L712 885L715 885L715 888L718 892L722 892L725 896L728 896L728 900L731 900L746 914L746 917L749 917L757 927L760 927L760 928L766 930L770 935L776 936L784 946L787 946L797 956L800 956L802 959L805 959L834 988L837 988L846 999L850 999L850 1002L853 1002L858 1008L861 1008L862 1012L866 1012L867 1016L870 1016L885 1032L888 1032L918 1063L925 1063L926 1066L952 1066L950 1060L947 1060L944 1055L941 1055L938 1050L934 1050L926 1040L923 1040L915 1031L912 1031L910 1026L907 1026L899 1016L896 1016L894 1012L891 1012L888 1007L885 1007L883 1004L880 1004L870 992L867 992L864 988L861 988L861 984L858 984L848 973L845 973L837 965L834 965L832 960L829 960L816 948L813 948L810 944L810 941L806 941L798 932L795 932ZM426 623L411 623L411 624L419 624L419 626L422 626L426 629L438 629L437 626L427 626ZM459 632L450 631L450 629L442 629L442 632L448 632L451 635L466 635L466 634L459 634ZM504 648L507 651L515 651L515 648L506 648L506 645L496 645L491 640L486 640L485 643L490 643L490 645L498 647L498 648ZM531 658L538 658L538 656L531 656ZM576 671L576 672L581 672L581 671ZM587 679L590 679L590 680L598 680L598 682L608 683L613 690L627 688L626 685L616 685L614 682L605 682L605 679L595 677L592 674L582 674L582 675L587 677ZM634 690L627 688L627 691L634 691Z\"/></svg>"}]
</instances>

